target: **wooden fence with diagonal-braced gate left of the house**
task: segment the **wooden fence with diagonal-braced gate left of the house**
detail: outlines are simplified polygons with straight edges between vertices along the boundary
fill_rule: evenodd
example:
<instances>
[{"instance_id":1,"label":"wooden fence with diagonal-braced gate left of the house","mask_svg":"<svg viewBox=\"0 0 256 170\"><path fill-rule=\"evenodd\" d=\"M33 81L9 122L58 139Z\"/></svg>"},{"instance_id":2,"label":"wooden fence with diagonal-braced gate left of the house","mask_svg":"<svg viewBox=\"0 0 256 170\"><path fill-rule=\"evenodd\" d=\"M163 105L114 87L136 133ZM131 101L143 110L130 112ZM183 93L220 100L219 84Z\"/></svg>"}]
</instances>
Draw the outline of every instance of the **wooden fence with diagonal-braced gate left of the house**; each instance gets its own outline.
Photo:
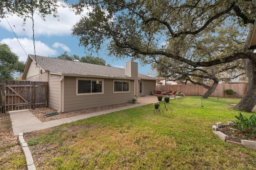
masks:
<instances>
[{"instance_id":1,"label":"wooden fence with diagonal-braced gate left of the house","mask_svg":"<svg viewBox=\"0 0 256 170\"><path fill-rule=\"evenodd\" d=\"M1 111L48 106L48 82L0 81Z\"/></svg>"}]
</instances>

